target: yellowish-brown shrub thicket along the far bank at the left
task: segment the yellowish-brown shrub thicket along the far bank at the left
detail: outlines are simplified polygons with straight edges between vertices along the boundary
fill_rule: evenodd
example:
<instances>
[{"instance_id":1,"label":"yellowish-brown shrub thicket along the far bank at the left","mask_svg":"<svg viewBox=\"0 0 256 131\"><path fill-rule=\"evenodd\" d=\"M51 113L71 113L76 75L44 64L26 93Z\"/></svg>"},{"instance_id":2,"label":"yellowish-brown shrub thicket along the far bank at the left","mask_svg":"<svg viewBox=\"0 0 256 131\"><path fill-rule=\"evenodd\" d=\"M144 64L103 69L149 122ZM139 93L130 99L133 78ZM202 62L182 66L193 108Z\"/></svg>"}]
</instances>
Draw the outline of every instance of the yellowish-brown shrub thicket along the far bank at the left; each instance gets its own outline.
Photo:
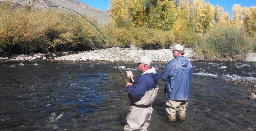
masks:
<instances>
[{"instance_id":1,"label":"yellowish-brown shrub thicket along the far bank at the left","mask_svg":"<svg viewBox=\"0 0 256 131\"><path fill-rule=\"evenodd\" d=\"M1 54L91 50L103 43L92 26L74 12L58 9L36 11L31 5L0 5ZM86 18L86 16L84 16ZM97 26L93 19L87 18Z\"/></svg>"}]
</instances>

